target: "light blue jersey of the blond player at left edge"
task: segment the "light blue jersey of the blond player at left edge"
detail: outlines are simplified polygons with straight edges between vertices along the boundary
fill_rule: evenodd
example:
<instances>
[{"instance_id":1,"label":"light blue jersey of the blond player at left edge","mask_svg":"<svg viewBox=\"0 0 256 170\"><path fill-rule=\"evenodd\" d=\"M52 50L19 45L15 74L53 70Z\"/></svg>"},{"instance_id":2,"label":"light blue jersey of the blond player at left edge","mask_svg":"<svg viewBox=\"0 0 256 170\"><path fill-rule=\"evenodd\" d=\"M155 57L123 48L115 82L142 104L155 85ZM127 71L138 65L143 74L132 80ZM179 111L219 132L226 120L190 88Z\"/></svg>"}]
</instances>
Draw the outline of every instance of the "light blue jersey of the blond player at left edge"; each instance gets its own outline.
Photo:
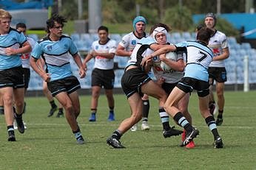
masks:
<instances>
[{"instance_id":1,"label":"light blue jersey of the blond player at left edge","mask_svg":"<svg viewBox=\"0 0 256 170\"><path fill-rule=\"evenodd\" d=\"M13 28L6 35L0 35L0 70L21 66L21 54L7 56L5 49L19 49L26 41L23 33Z\"/></svg>"}]
</instances>

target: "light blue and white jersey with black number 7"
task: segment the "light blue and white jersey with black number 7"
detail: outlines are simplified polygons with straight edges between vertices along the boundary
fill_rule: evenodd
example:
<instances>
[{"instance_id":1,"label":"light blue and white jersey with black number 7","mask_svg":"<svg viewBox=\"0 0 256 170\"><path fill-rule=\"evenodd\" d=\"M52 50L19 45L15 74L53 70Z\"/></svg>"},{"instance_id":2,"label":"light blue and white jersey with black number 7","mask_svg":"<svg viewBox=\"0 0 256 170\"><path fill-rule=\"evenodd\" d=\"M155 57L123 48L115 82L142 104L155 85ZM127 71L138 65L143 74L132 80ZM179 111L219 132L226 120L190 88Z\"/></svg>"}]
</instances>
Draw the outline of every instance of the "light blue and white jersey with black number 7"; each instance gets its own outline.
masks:
<instances>
[{"instance_id":1,"label":"light blue and white jersey with black number 7","mask_svg":"<svg viewBox=\"0 0 256 170\"><path fill-rule=\"evenodd\" d=\"M186 68L184 77L191 77L208 82L208 67L213 53L206 44L198 41L185 41L175 44L178 48L186 47Z\"/></svg>"}]
</instances>

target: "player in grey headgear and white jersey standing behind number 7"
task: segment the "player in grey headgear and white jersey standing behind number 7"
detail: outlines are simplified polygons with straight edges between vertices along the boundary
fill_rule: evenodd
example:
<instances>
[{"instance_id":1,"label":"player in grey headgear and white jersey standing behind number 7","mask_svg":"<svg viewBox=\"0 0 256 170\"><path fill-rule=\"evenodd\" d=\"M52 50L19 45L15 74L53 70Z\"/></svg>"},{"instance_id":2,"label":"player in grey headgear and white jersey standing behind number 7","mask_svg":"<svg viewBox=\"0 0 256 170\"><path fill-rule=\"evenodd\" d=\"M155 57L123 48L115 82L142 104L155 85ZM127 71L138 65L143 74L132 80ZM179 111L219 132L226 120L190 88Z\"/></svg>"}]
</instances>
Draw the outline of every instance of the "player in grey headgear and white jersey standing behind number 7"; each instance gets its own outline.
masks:
<instances>
[{"instance_id":1,"label":"player in grey headgear and white jersey standing behind number 7","mask_svg":"<svg viewBox=\"0 0 256 170\"><path fill-rule=\"evenodd\" d=\"M214 31L209 40L209 48L212 49L214 58L209 65L209 83L210 83L210 95L209 95L209 109L213 114L215 111L215 99L213 94L213 83L216 81L216 93L218 98L218 117L216 119L217 126L220 126L223 122L223 110L225 105L224 99L224 82L226 82L226 68L224 60L229 57L229 46L226 40L226 35L215 29L217 18L213 13L207 13L204 18L206 26ZM216 109L217 110L217 109Z\"/></svg>"}]
</instances>

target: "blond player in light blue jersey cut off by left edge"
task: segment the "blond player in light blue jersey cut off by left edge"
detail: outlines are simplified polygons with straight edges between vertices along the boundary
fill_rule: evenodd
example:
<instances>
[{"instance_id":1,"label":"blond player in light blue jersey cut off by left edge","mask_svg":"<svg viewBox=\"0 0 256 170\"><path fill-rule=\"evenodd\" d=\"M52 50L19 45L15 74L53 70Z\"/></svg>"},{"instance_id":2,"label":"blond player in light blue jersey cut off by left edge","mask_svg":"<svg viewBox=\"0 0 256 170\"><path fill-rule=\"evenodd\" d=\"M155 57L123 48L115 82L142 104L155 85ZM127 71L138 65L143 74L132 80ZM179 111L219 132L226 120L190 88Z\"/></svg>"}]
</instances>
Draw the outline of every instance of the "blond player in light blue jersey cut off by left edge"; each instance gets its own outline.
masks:
<instances>
[{"instance_id":1,"label":"blond player in light blue jersey cut off by left edge","mask_svg":"<svg viewBox=\"0 0 256 170\"><path fill-rule=\"evenodd\" d=\"M16 141L13 128L14 117L18 132L24 133L22 121L24 79L20 55L30 52L31 46L21 32L10 27L11 19L10 13L0 9L0 95L4 101L8 141Z\"/></svg>"}]
</instances>

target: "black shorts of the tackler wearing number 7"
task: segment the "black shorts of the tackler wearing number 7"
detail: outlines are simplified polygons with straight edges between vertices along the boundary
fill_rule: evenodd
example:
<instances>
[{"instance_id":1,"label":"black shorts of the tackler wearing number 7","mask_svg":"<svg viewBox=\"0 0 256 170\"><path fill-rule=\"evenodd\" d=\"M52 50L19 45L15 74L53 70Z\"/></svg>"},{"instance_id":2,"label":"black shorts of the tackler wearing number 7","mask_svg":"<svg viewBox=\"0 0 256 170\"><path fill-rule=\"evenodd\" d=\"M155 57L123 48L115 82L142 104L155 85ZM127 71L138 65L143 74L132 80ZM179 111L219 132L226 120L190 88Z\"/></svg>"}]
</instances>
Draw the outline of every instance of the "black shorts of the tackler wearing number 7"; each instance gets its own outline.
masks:
<instances>
[{"instance_id":1,"label":"black shorts of the tackler wearing number 7","mask_svg":"<svg viewBox=\"0 0 256 170\"><path fill-rule=\"evenodd\" d=\"M183 77L177 84L177 88L185 93L191 93L193 90L198 91L198 96L204 97L209 94L209 82L190 77Z\"/></svg>"}]
</instances>

